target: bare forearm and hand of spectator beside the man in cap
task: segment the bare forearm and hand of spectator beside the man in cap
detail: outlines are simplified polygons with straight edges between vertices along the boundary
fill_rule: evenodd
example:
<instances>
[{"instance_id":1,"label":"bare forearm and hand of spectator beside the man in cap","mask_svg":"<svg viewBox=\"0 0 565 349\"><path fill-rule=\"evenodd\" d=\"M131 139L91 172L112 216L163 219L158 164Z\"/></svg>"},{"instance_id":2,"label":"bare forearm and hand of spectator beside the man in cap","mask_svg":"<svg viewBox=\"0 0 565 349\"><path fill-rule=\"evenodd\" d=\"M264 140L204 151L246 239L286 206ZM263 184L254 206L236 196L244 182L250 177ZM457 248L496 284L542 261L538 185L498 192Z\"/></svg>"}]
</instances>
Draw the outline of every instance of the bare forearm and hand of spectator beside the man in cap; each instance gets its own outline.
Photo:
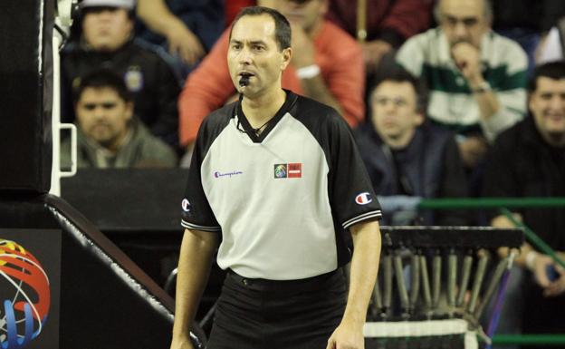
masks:
<instances>
[{"instance_id":1,"label":"bare forearm and hand of spectator beside the man in cap","mask_svg":"<svg viewBox=\"0 0 565 349\"><path fill-rule=\"evenodd\" d=\"M152 31L167 38L169 52L178 54L185 63L194 64L204 56L196 35L168 10L165 0L139 0L137 13Z\"/></svg>"}]
</instances>

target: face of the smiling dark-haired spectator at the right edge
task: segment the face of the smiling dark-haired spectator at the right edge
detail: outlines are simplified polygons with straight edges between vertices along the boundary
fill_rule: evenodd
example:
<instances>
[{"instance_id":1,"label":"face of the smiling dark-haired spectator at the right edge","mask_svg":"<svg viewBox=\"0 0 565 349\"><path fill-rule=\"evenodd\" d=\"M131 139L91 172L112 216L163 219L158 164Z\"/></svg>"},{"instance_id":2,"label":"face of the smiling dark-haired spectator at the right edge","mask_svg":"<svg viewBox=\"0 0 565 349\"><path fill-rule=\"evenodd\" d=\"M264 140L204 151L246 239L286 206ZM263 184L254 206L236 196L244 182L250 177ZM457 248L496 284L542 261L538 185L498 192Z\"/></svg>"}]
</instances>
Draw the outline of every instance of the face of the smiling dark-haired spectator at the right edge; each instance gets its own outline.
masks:
<instances>
[{"instance_id":1,"label":"face of the smiling dark-haired spectator at the right edge","mask_svg":"<svg viewBox=\"0 0 565 349\"><path fill-rule=\"evenodd\" d=\"M565 79L541 76L529 101L533 119L544 139L560 142L565 137ZM551 141L552 142L552 141Z\"/></svg>"}]
</instances>

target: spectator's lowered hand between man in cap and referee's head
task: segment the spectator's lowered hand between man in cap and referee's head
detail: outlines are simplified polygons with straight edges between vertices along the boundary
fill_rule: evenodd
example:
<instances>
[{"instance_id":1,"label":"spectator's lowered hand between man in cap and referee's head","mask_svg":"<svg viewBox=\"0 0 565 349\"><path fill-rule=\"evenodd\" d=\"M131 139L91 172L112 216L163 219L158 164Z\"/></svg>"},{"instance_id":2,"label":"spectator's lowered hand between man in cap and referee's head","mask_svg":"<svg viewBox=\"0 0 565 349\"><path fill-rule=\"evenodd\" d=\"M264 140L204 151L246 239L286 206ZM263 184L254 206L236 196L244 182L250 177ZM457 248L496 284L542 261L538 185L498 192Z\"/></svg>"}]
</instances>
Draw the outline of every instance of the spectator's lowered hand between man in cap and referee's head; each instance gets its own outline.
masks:
<instances>
[{"instance_id":1,"label":"spectator's lowered hand between man in cap and referee's head","mask_svg":"<svg viewBox=\"0 0 565 349\"><path fill-rule=\"evenodd\" d=\"M165 36L168 41L168 52L178 55L184 63L192 65L205 54L198 37L181 21L170 23Z\"/></svg>"}]
</instances>

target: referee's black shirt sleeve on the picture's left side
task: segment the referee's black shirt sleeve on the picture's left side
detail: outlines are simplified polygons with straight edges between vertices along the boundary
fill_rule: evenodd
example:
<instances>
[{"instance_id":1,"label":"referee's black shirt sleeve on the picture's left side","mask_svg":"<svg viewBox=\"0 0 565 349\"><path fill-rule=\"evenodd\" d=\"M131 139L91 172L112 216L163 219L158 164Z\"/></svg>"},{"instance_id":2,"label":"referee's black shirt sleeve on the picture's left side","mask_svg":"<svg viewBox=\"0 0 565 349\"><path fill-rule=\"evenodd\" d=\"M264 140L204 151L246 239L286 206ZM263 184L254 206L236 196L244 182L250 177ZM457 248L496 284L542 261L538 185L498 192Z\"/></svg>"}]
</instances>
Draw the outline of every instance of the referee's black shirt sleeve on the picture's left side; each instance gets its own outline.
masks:
<instances>
[{"instance_id":1,"label":"referee's black shirt sleeve on the picture's left side","mask_svg":"<svg viewBox=\"0 0 565 349\"><path fill-rule=\"evenodd\" d=\"M211 135L206 132L207 122L203 122L196 137L192 162L188 170L187 189L181 203L181 226L189 229L220 232L221 228L215 219L214 212L206 198L202 187L201 166L206 156L206 144L211 142Z\"/></svg>"}]
</instances>

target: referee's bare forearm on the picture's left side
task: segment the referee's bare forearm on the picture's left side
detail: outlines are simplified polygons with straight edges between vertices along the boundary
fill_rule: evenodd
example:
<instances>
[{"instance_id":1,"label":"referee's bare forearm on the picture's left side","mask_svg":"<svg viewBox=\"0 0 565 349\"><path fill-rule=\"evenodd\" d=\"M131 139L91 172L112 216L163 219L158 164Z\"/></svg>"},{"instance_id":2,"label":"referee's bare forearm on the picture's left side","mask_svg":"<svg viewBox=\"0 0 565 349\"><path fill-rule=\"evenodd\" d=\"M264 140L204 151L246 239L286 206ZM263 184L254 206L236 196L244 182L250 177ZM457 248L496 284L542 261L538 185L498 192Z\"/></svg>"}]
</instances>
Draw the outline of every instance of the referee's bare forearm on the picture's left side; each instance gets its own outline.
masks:
<instances>
[{"instance_id":1,"label":"referee's bare forearm on the picture's left side","mask_svg":"<svg viewBox=\"0 0 565 349\"><path fill-rule=\"evenodd\" d=\"M175 325L171 349L192 349L190 325L204 292L218 237L215 233L185 229L177 273Z\"/></svg>"}]
</instances>

